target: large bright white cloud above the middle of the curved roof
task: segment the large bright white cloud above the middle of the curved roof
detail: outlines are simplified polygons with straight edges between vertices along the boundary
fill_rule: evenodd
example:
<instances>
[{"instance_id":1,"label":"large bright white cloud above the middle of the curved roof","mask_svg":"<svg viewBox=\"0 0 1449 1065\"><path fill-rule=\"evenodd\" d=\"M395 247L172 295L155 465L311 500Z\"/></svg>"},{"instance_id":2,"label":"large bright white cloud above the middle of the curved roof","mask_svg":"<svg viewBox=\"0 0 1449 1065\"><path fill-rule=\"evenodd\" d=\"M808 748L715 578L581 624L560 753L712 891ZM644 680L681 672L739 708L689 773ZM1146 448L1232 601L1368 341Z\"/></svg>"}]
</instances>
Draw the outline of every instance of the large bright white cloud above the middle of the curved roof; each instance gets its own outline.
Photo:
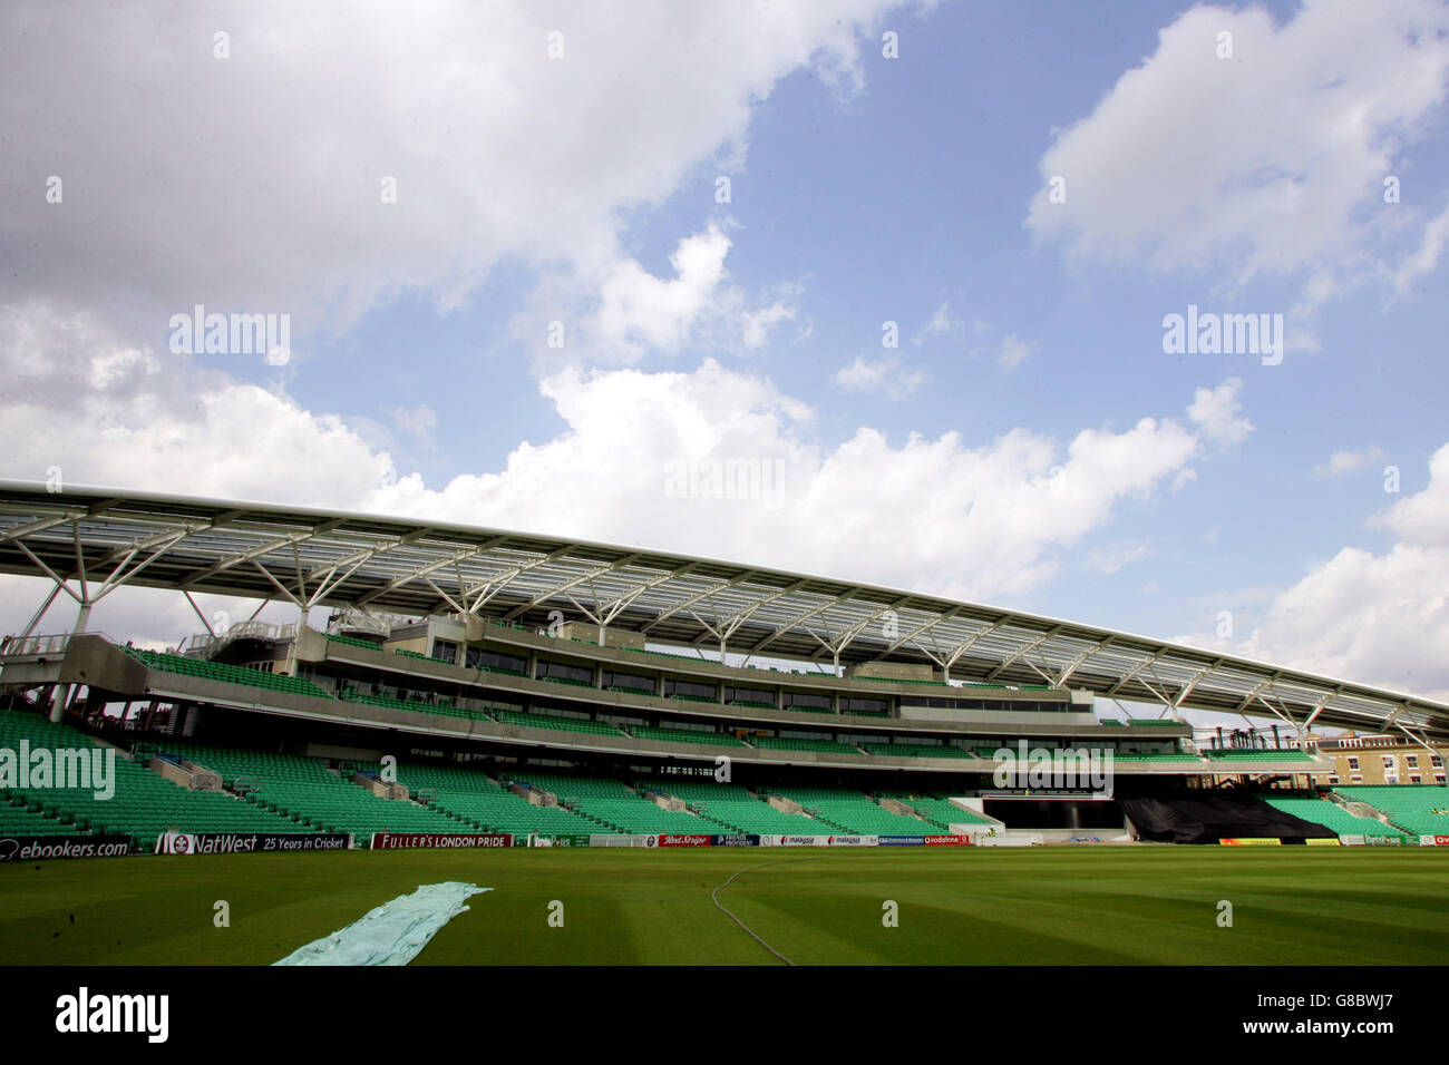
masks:
<instances>
[{"instance_id":1,"label":"large bright white cloud above the middle of the curved roof","mask_svg":"<svg viewBox=\"0 0 1449 1065\"><path fill-rule=\"evenodd\" d=\"M693 374L569 369L543 391L568 426L559 436L440 490L404 478L378 506L982 597L1046 580L1058 549L1110 523L1120 498L1151 496L1200 446L1172 419L1148 417L1082 430L1065 454L1026 429L971 448L956 433L893 446L862 427L824 449L809 407L713 362ZM667 496L668 464L706 459L778 462L781 490Z\"/></svg>"}]
</instances>

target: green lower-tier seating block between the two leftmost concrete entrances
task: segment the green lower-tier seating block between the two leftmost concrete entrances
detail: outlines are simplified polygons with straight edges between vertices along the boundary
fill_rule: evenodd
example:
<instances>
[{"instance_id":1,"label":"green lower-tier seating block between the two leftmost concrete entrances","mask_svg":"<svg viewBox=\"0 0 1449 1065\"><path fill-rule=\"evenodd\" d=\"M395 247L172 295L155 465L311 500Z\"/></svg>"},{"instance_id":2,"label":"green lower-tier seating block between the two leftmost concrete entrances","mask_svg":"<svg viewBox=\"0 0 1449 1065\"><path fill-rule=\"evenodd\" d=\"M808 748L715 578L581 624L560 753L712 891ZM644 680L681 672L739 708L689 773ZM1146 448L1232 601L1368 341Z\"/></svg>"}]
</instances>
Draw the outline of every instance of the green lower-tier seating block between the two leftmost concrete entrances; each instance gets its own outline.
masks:
<instances>
[{"instance_id":1,"label":"green lower-tier seating block between the two leftmost concrete entrances","mask_svg":"<svg viewBox=\"0 0 1449 1065\"><path fill-rule=\"evenodd\" d=\"M323 832L351 832L358 842L374 832L459 832L464 827L458 819L416 803L374 795L354 784L351 774L343 778L314 758L178 740L167 740L164 748L220 772L229 784L251 778L256 790L246 798L262 809Z\"/></svg>"}]
</instances>

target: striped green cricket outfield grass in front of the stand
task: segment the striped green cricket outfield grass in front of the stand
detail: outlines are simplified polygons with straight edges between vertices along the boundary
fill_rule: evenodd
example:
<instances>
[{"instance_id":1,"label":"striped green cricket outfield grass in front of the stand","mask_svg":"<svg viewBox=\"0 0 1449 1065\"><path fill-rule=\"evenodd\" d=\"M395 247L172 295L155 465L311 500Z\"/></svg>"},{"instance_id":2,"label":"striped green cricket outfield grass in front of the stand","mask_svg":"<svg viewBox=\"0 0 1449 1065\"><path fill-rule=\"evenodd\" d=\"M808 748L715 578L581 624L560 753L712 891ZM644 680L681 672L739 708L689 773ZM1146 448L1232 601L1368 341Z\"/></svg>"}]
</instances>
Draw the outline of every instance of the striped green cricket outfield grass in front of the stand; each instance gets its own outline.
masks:
<instances>
[{"instance_id":1,"label":"striped green cricket outfield grass in front of the stand","mask_svg":"<svg viewBox=\"0 0 1449 1065\"><path fill-rule=\"evenodd\" d=\"M493 891L417 965L1443 964L1449 851L352 851L0 866L4 964L265 965L419 884ZM213 926L213 903L230 927ZM564 927L548 926L552 900ZM882 903L898 927L881 923ZM1233 927L1217 926L1217 903Z\"/></svg>"}]
</instances>

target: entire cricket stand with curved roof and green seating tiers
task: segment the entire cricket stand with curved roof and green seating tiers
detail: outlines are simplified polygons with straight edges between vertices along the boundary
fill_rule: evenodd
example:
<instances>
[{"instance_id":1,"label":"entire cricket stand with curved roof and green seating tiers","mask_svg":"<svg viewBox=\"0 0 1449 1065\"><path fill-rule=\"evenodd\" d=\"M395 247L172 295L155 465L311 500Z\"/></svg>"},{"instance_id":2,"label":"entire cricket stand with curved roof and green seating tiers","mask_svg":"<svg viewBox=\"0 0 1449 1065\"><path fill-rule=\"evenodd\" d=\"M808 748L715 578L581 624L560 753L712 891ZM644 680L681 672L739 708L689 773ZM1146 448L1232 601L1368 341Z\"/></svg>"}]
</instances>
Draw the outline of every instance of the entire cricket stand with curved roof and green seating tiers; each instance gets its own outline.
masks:
<instances>
[{"instance_id":1,"label":"entire cricket stand with curved roof and green seating tiers","mask_svg":"<svg viewBox=\"0 0 1449 1065\"><path fill-rule=\"evenodd\" d=\"M0 485L0 861L341 848L1449 842L1314 726L1449 707L1084 625L490 529ZM180 648L123 585L290 603ZM74 623L42 623L70 597ZM314 627L313 609L330 609ZM259 609L258 609L259 613ZM1156 716L1139 707L1155 706ZM1130 709L1129 709L1130 707ZM1101 714L1098 713L1101 709ZM1201 745L1185 710L1271 717Z\"/></svg>"}]
</instances>

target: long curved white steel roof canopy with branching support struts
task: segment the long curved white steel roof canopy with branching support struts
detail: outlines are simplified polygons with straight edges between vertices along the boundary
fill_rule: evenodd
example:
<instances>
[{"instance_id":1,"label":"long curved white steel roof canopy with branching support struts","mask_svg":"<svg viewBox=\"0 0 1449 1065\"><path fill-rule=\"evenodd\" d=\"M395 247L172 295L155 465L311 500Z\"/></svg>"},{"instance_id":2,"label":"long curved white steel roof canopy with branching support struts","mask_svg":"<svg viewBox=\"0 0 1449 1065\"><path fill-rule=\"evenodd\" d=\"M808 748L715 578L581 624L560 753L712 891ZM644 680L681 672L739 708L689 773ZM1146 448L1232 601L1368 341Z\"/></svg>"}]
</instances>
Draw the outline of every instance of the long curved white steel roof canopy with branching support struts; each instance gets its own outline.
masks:
<instances>
[{"instance_id":1,"label":"long curved white steel roof canopy with branching support struts","mask_svg":"<svg viewBox=\"0 0 1449 1065\"><path fill-rule=\"evenodd\" d=\"M1449 736L1449 706L1052 617L587 540L183 496L0 481L0 572L94 601L123 584L371 611L549 611L677 643L1052 684L1291 726Z\"/></svg>"}]
</instances>

